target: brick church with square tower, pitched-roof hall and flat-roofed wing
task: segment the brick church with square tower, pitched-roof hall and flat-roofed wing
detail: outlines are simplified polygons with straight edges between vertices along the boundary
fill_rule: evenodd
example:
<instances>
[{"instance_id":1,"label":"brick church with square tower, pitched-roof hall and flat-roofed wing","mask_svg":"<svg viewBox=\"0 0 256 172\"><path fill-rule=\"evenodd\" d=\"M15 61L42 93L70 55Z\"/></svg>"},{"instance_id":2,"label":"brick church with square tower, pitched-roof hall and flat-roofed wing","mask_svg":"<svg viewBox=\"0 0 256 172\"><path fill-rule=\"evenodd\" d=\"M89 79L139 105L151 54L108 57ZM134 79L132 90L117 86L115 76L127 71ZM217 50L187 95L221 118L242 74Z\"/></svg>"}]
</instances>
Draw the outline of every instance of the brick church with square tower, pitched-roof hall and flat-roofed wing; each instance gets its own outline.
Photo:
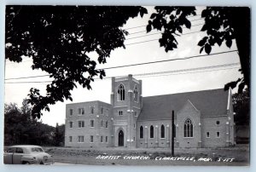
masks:
<instances>
[{"instance_id":1,"label":"brick church with square tower, pitched-roof hall and flat-roofed wing","mask_svg":"<svg viewBox=\"0 0 256 172\"><path fill-rule=\"evenodd\" d=\"M235 144L231 90L142 96L142 81L112 78L111 104L67 104L65 146L224 147Z\"/></svg>"}]
</instances>

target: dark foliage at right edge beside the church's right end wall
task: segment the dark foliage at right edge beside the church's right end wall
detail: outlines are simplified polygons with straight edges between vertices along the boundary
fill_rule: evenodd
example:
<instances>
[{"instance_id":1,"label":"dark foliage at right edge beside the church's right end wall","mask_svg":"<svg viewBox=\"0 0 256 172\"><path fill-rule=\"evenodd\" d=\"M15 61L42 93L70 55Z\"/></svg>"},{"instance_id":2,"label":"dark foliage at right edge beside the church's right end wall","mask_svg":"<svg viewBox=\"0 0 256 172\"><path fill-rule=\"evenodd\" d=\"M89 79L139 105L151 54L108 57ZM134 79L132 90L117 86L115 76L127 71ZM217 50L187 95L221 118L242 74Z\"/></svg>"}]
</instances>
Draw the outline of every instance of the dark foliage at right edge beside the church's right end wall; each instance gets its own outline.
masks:
<instances>
[{"instance_id":1,"label":"dark foliage at right edge beside the church's right end wall","mask_svg":"<svg viewBox=\"0 0 256 172\"><path fill-rule=\"evenodd\" d=\"M232 96L234 105L235 123L236 125L249 125L250 123L250 95L248 89L245 89L241 94Z\"/></svg>"}]
</instances>

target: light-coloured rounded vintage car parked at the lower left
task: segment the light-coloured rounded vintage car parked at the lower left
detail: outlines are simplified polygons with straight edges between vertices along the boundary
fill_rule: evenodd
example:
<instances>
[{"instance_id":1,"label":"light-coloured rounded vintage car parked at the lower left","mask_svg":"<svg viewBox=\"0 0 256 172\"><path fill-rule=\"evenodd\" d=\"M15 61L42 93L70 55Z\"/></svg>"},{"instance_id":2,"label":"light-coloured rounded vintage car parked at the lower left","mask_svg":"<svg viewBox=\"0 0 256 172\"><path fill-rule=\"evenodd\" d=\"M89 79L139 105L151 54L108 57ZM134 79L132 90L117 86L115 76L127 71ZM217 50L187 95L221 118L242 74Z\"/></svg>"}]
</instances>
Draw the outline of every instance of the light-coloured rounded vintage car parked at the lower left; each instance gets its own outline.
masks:
<instances>
[{"instance_id":1,"label":"light-coloured rounded vintage car parked at the lower left","mask_svg":"<svg viewBox=\"0 0 256 172\"><path fill-rule=\"evenodd\" d=\"M52 164L53 158L41 146L10 146L3 154L5 164Z\"/></svg>"}]
</instances>

